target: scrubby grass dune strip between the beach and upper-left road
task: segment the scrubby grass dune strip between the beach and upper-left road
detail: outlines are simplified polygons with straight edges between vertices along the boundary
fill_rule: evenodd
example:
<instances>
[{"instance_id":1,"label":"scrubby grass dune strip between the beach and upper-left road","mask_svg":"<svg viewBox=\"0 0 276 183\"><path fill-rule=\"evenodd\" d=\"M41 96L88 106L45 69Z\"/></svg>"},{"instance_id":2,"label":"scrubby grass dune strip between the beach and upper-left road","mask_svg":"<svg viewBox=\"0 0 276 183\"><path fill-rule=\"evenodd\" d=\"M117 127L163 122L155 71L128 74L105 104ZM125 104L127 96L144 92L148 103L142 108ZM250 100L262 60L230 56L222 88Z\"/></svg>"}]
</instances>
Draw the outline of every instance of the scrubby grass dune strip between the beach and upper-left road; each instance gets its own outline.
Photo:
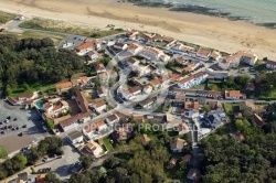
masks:
<instances>
[{"instance_id":1,"label":"scrubby grass dune strip between the beach and upper-left road","mask_svg":"<svg viewBox=\"0 0 276 183\"><path fill-rule=\"evenodd\" d=\"M54 21L40 18L34 18L32 20L22 22L20 23L19 26L25 29L45 30L45 31L84 35L84 36L92 36L92 37L103 37L124 32L124 30L121 29L98 30L85 25L76 26L76 24L68 24L67 22L64 21Z\"/></svg>"}]
</instances>

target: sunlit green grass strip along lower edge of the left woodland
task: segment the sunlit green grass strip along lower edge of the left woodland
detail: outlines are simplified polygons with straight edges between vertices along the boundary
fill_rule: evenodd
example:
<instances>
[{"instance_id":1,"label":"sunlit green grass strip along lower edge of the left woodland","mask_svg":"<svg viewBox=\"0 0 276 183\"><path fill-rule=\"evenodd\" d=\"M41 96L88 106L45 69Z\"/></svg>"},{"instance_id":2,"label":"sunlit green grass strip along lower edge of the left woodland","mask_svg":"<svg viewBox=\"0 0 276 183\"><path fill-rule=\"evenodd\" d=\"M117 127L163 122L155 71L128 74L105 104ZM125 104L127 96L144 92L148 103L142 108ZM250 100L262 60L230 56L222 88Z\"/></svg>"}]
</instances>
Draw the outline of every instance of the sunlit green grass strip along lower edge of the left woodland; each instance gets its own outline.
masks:
<instances>
[{"instance_id":1,"label":"sunlit green grass strip along lower edge of the left woodland","mask_svg":"<svg viewBox=\"0 0 276 183\"><path fill-rule=\"evenodd\" d=\"M54 84L49 84L49 83L33 83L33 84L29 84L28 89L24 89L22 85L19 85L17 88L12 88L12 93L10 94L10 96L18 96L21 94L28 94L28 93L32 93L32 92L47 92L51 94L55 94L55 86Z\"/></svg>"}]
</instances>

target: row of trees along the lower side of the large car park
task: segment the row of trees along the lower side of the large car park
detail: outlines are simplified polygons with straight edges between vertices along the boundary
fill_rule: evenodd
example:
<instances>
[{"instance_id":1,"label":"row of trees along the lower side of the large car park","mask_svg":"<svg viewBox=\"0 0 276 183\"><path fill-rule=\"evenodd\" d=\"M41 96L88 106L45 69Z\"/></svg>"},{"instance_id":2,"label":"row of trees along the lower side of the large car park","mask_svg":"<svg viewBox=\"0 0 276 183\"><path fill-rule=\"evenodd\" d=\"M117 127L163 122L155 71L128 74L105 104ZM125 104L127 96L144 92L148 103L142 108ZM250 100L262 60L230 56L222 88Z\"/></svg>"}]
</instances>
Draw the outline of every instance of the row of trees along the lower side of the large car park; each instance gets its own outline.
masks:
<instances>
[{"instance_id":1,"label":"row of trees along the lower side of the large car park","mask_svg":"<svg viewBox=\"0 0 276 183\"><path fill-rule=\"evenodd\" d=\"M12 159L6 160L0 164L0 180L6 179L21 170L26 165L33 165L39 159L45 154L62 154L62 139L57 137L46 137L40 141L38 147L32 147L30 151L20 153Z\"/></svg>"}]
</instances>

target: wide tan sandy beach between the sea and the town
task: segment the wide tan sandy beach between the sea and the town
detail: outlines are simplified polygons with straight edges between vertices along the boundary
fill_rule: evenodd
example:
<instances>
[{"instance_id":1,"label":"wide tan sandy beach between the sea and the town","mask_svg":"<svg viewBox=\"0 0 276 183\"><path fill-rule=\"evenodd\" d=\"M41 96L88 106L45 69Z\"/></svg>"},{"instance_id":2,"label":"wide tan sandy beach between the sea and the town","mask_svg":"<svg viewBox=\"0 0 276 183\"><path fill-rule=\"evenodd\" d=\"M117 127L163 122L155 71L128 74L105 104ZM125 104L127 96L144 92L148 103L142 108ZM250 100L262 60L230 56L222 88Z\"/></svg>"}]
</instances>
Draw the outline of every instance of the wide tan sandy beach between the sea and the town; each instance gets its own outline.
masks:
<instances>
[{"instance_id":1,"label":"wide tan sandy beach between the sea and the town","mask_svg":"<svg viewBox=\"0 0 276 183\"><path fill-rule=\"evenodd\" d=\"M1 0L0 10L104 29L156 32L224 52L252 51L276 60L276 30L161 8L135 7L116 0Z\"/></svg>"}]
</instances>

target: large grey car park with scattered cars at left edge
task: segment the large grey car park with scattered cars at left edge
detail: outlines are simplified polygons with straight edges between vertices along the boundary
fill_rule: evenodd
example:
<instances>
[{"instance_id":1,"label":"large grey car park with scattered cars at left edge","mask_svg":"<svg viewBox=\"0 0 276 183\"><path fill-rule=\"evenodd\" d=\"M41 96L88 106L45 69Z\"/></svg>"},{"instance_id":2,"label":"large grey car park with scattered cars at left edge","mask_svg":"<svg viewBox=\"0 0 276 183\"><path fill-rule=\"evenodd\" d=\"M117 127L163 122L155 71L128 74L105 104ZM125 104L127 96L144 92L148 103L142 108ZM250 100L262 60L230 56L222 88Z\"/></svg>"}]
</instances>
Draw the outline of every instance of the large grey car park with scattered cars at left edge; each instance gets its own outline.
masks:
<instances>
[{"instance_id":1,"label":"large grey car park with scattered cars at left edge","mask_svg":"<svg viewBox=\"0 0 276 183\"><path fill-rule=\"evenodd\" d=\"M10 117L9 121L7 117ZM24 128L23 128L24 127ZM36 110L24 110L0 100L0 144L8 153L21 150L47 133Z\"/></svg>"}]
</instances>

